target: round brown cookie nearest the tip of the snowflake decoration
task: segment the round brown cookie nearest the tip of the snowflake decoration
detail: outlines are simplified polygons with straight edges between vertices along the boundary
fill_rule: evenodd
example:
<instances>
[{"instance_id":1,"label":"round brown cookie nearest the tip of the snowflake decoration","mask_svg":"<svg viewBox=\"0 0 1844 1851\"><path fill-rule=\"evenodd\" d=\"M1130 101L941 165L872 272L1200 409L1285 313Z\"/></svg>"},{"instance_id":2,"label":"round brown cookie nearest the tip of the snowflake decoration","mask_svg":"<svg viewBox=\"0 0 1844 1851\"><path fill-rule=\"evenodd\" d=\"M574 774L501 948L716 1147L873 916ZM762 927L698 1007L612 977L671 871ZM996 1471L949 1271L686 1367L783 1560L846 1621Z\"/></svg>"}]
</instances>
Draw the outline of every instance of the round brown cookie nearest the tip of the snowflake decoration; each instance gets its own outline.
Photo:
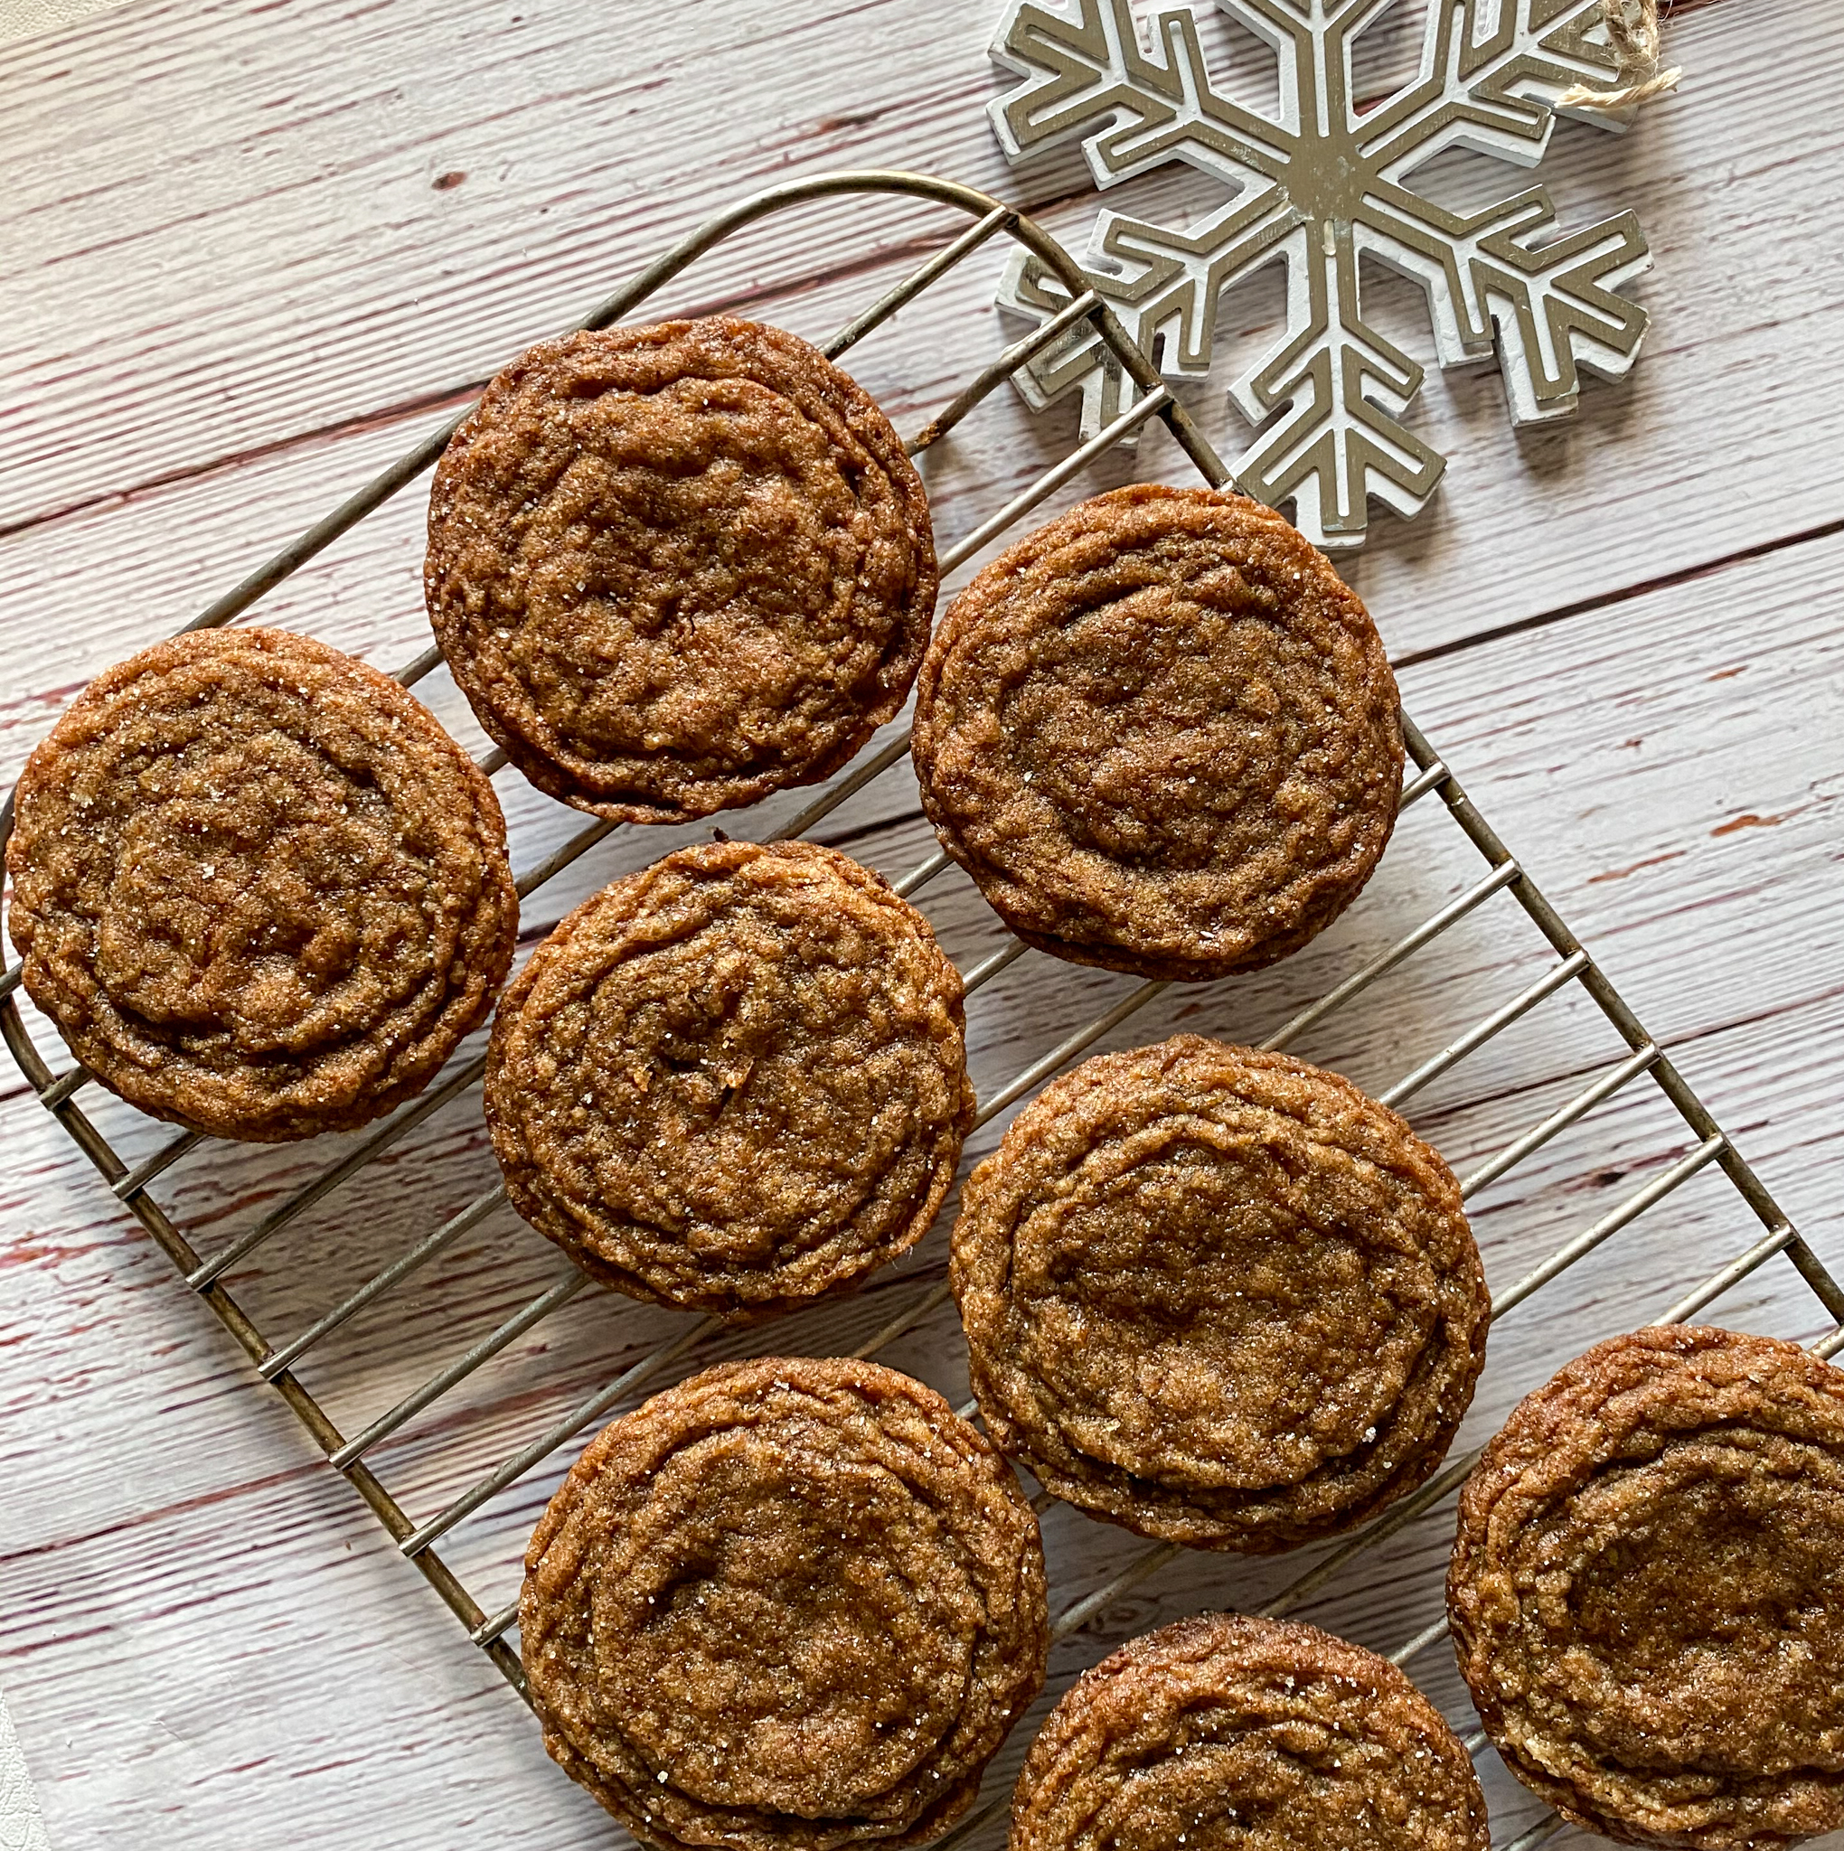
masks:
<instances>
[{"instance_id":1,"label":"round brown cookie nearest the tip of the snowflake decoration","mask_svg":"<svg viewBox=\"0 0 1844 1851\"><path fill-rule=\"evenodd\" d=\"M1402 785L1396 681L1326 555L1246 496L1150 483L953 600L913 750L942 844L1020 938L1148 977L1324 931Z\"/></svg>"}]
</instances>

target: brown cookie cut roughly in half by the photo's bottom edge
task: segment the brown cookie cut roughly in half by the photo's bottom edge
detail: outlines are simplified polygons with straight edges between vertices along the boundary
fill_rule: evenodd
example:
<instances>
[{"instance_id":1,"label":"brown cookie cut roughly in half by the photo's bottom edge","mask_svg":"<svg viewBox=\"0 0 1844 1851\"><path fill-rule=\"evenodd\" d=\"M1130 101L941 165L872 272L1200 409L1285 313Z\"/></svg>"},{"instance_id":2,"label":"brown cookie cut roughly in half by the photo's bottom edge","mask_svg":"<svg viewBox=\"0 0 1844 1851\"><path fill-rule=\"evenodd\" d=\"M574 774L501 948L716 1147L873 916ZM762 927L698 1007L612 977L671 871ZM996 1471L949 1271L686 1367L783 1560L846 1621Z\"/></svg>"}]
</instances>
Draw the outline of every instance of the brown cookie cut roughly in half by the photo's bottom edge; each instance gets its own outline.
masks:
<instances>
[{"instance_id":1,"label":"brown cookie cut roughly in half by the photo's bottom edge","mask_svg":"<svg viewBox=\"0 0 1844 1851\"><path fill-rule=\"evenodd\" d=\"M1011 1851L1487 1851L1485 1797L1389 1660L1240 1614L1129 1640L1050 1712Z\"/></svg>"}]
</instances>

